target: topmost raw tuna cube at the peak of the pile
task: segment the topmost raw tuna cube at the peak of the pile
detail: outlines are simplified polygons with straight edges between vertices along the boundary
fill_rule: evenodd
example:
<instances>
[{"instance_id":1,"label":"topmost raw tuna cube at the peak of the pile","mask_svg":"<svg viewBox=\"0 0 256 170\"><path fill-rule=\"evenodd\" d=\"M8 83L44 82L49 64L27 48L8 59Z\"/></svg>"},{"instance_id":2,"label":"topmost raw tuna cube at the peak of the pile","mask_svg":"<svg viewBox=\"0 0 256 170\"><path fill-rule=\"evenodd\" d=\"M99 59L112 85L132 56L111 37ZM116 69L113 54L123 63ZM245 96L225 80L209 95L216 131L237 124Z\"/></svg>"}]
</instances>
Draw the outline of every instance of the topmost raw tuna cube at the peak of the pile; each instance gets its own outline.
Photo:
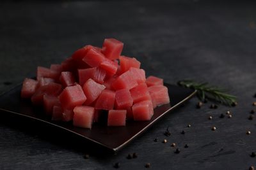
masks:
<instances>
[{"instance_id":1,"label":"topmost raw tuna cube at the peak of the pile","mask_svg":"<svg viewBox=\"0 0 256 170\"><path fill-rule=\"evenodd\" d=\"M121 41L114 38L106 38L102 46L102 53L104 53L108 59L115 60L121 55L123 47L124 43Z\"/></svg>"}]
</instances>

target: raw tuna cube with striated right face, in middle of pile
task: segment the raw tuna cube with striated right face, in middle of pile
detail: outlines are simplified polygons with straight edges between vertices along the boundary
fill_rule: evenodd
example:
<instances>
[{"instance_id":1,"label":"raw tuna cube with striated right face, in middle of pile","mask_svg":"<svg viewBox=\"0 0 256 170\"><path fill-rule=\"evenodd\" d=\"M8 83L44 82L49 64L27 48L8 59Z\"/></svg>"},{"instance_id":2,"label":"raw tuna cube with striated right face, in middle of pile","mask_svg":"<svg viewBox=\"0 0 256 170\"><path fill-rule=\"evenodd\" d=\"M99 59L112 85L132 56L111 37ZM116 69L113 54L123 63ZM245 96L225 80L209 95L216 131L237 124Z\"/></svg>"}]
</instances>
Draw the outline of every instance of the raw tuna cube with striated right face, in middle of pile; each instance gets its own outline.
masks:
<instances>
[{"instance_id":1,"label":"raw tuna cube with striated right face, in middle of pile","mask_svg":"<svg viewBox=\"0 0 256 170\"><path fill-rule=\"evenodd\" d=\"M106 78L106 72L98 67L79 69L78 75L80 85L84 85L84 83L90 78L92 78L92 80L96 81L97 83L103 83Z\"/></svg>"}]
</instances>

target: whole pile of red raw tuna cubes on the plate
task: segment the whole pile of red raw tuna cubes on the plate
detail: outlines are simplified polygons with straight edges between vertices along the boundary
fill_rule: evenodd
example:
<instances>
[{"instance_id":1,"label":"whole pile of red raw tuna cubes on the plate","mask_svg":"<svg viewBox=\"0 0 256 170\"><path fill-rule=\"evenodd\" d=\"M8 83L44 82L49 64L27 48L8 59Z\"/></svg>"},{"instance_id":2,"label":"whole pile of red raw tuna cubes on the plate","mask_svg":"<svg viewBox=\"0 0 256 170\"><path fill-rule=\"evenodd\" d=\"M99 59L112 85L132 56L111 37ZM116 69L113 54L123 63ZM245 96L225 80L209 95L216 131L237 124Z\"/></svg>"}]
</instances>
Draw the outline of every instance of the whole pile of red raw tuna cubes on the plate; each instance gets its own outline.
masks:
<instances>
[{"instance_id":1,"label":"whole pile of red raw tuna cubes on the plate","mask_svg":"<svg viewBox=\"0 0 256 170\"><path fill-rule=\"evenodd\" d=\"M102 48L86 45L50 68L38 67L36 80L26 78L21 97L44 106L54 121L92 128L101 113L108 126L126 120L150 120L154 108L170 103L163 79L148 76L135 58L121 55L124 43L104 39Z\"/></svg>"}]
</instances>

